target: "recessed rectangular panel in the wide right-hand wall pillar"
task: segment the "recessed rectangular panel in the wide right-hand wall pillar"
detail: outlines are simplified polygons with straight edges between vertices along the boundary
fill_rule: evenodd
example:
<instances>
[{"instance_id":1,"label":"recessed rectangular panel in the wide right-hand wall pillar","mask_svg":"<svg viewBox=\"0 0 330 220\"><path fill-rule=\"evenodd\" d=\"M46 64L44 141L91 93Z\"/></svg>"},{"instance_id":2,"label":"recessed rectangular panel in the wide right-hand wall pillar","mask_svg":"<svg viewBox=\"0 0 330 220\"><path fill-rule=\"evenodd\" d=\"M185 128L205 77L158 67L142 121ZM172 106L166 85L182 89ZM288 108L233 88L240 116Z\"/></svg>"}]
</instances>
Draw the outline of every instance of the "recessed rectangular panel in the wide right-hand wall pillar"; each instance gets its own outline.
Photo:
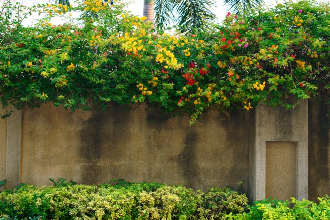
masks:
<instances>
[{"instance_id":1,"label":"recessed rectangular panel in the wide right-hand wall pillar","mask_svg":"<svg viewBox=\"0 0 330 220\"><path fill-rule=\"evenodd\" d=\"M296 197L298 142L266 142L266 198Z\"/></svg>"}]
</instances>

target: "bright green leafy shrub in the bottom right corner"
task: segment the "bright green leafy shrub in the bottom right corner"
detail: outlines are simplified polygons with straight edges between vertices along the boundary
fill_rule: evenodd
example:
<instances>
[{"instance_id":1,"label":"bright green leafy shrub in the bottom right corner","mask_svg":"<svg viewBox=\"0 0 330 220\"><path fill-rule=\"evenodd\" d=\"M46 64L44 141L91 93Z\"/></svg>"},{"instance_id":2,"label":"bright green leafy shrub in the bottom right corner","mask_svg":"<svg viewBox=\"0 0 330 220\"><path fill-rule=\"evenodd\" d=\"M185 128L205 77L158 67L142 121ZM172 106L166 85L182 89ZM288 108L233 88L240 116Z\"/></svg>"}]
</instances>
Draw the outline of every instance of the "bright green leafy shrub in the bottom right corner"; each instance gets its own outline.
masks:
<instances>
[{"instance_id":1,"label":"bright green leafy shrub in the bottom right corner","mask_svg":"<svg viewBox=\"0 0 330 220\"><path fill-rule=\"evenodd\" d=\"M318 198L319 202L306 199L298 201L263 200L249 208L247 213L229 214L228 220L329 220L330 197Z\"/></svg>"}]
</instances>

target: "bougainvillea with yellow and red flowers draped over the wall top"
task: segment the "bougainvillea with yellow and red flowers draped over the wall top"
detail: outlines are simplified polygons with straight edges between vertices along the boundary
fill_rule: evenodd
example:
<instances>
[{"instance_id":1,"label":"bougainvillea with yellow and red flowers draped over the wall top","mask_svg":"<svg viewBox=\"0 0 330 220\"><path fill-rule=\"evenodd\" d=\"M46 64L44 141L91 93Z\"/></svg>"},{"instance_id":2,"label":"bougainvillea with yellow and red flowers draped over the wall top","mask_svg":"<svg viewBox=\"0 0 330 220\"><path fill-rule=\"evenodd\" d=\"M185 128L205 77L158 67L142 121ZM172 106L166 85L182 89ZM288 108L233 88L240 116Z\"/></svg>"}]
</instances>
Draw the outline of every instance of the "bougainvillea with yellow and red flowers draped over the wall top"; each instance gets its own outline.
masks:
<instances>
[{"instance_id":1,"label":"bougainvillea with yellow and red flowers draped over the wall top","mask_svg":"<svg viewBox=\"0 0 330 220\"><path fill-rule=\"evenodd\" d=\"M328 4L228 13L223 24L197 35L158 33L123 8L101 0L77 7L5 3L2 106L52 102L75 110L146 102L194 121L209 108L250 110L260 102L290 108L288 98L330 87ZM43 17L23 26L28 12ZM79 13L84 16L72 16ZM51 24L54 17L63 24Z\"/></svg>"}]
</instances>

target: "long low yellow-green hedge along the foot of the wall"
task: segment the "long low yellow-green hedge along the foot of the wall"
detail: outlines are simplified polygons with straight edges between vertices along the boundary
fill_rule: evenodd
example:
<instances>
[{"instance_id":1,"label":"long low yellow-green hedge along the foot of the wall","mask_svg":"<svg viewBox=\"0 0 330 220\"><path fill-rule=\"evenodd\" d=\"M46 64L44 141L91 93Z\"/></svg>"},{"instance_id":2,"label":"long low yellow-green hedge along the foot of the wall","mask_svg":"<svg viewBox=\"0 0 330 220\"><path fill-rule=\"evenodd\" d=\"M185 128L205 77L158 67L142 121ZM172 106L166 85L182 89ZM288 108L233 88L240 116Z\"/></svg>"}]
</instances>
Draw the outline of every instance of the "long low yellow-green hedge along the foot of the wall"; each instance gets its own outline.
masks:
<instances>
[{"instance_id":1,"label":"long low yellow-green hedge along the foot of the wall","mask_svg":"<svg viewBox=\"0 0 330 220\"><path fill-rule=\"evenodd\" d=\"M0 219L221 219L242 213L247 197L228 188L208 192L159 183L22 185L0 192ZM2 217L2 216L0 216Z\"/></svg>"}]
</instances>

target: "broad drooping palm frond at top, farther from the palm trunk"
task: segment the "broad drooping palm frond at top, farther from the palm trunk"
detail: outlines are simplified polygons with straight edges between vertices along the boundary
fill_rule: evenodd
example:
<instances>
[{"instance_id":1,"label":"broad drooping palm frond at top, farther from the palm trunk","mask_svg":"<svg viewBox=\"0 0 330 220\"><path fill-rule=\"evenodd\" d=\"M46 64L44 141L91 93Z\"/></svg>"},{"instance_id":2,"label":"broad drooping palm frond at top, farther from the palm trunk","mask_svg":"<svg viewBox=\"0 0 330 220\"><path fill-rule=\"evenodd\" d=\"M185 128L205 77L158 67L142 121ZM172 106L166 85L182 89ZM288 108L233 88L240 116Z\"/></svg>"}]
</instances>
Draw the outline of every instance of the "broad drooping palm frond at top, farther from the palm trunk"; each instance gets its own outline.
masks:
<instances>
[{"instance_id":1,"label":"broad drooping palm frond at top, farther from the palm trunk","mask_svg":"<svg viewBox=\"0 0 330 220\"><path fill-rule=\"evenodd\" d=\"M210 10L214 0L176 0L178 17L176 22L181 26L181 32L191 32L207 26L207 22L215 15Z\"/></svg>"}]
</instances>

